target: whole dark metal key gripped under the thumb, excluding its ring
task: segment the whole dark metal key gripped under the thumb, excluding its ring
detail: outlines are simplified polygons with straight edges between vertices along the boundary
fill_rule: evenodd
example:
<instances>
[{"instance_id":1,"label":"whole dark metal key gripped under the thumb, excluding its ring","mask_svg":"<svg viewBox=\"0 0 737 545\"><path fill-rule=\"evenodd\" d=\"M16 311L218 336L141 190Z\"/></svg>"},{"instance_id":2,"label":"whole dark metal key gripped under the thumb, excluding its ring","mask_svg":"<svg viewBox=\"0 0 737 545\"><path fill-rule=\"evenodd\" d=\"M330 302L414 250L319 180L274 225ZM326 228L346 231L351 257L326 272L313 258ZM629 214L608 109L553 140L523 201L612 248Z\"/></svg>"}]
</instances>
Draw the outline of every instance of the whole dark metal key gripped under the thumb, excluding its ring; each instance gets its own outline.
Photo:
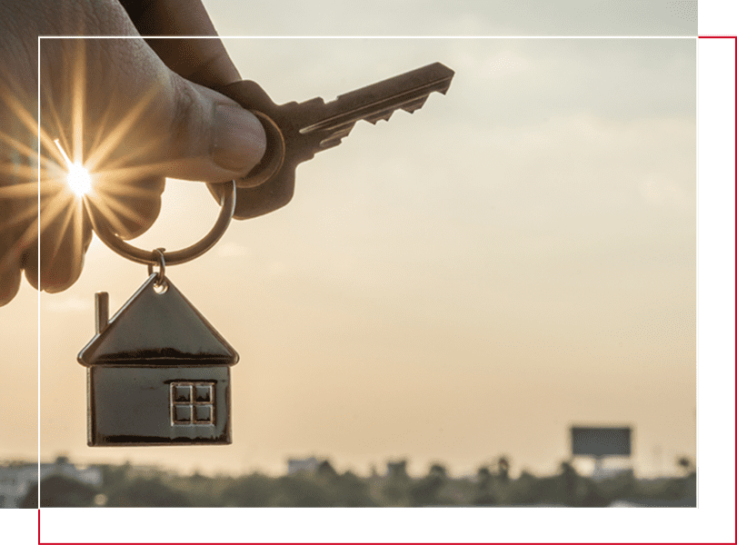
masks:
<instances>
[{"instance_id":1,"label":"whole dark metal key gripped under the thumb, excluding its ring","mask_svg":"<svg viewBox=\"0 0 737 545\"><path fill-rule=\"evenodd\" d=\"M0 0L1 1L1 0ZM259 116L266 130L266 154L244 178L235 181L235 219L244 220L274 212L294 195L296 168L314 154L334 145L365 119L375 124L388 120L394 110L409 113L422 108L434 91L445 94L455 73L434 63L342 94L325 104L320 97L303 103L274 104L261 85L240 81L216 90ZM223 184L208 184L220 201Z\"/></svg>"}]
</instances>

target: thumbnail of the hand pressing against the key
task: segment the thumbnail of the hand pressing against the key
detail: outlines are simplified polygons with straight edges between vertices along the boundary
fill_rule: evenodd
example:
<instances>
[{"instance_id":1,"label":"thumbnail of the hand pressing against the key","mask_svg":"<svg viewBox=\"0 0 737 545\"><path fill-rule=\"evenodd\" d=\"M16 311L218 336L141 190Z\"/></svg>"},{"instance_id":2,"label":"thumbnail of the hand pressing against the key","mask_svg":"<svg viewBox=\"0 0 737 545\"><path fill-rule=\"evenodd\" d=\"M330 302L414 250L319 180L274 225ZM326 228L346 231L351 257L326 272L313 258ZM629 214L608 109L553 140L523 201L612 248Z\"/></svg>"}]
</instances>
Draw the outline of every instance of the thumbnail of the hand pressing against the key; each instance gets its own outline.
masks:
<instances>
[{"instance_id":1,"label":"thumbnail of the hand pressing against the key","mask_svg":"<svg viewBox=\"0 0 737 545\"><path fill-rule=\"evenodd\" d=\"M214 111L211 155L218 166L248 173L266 151L264 126L240 106L217 104Z\"/></svg>"}]
</instances>

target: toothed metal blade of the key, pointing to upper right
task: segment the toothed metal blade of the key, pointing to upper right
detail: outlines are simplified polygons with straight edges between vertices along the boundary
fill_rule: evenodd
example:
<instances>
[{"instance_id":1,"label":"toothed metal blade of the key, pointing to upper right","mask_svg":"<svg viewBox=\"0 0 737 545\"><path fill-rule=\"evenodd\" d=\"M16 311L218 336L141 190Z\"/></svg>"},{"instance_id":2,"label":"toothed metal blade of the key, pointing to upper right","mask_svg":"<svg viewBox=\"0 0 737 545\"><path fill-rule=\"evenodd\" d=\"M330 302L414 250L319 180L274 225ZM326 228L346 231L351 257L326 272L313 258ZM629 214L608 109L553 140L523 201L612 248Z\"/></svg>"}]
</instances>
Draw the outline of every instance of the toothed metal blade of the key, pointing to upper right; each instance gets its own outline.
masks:
<instances>
[{"instance_id":1,"label":"toothed metal blade of the key, pointing to upper right","mask_svg":"<svg viewBox=\"0 0 737 545\"><path fill-rule=\"evenodd\" d=\"M381 119L388 120L399 109L410 114L419 110L431 93L448 91L454 74L444 64L433 63L341 94L324 105L319 122L305 126L300 134L322 133L320 149L333 147L340 144L359 120L376 124Z\"/></svg>"}]
</instances>

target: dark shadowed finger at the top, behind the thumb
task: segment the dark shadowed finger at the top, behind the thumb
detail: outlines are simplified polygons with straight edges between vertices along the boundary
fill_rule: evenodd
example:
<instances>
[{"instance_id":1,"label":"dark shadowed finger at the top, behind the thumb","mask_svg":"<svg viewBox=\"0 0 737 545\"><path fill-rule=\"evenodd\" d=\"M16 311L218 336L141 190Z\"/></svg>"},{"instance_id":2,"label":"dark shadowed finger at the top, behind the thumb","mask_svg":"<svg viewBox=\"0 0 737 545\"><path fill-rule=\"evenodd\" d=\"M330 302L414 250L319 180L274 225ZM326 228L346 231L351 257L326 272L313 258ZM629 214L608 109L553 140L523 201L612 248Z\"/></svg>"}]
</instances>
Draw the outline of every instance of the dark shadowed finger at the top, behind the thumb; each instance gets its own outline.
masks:
<instances>
[{"instance_id":1,"label":"dark shadowed finger at the top, behind the thumb","mask_svg":"<svg viewBox=\"0 0 737 545\"><path fill-rule=\"evenodd\" d=\"M217 36L201 0L121 0L121 4L140 35ZM214 87L241 79L217 38L147 38L146 42L164 64L195 84Z\"/></svg>"}]
</instances>

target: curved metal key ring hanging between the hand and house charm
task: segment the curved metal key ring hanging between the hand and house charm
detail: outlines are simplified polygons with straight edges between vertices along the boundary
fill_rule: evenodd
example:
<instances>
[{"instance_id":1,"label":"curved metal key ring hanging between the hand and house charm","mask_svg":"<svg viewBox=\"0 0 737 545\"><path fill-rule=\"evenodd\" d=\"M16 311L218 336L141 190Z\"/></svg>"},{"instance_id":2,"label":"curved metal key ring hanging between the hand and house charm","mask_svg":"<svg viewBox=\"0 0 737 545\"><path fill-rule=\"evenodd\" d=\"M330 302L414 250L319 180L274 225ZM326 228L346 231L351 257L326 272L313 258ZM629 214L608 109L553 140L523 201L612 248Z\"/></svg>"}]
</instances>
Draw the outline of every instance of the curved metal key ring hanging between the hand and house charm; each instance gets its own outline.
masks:
<instances>
[{"instance_id":1,"label":"curved metal key ring hanging between the hand and house charm","mask_svg":"<svg viewBox=\"0 0 737 545\"><path fill-rule=\"evenodd\" d=\"M225 230L228 228L235 211L235 182L231 181L224 183L224 188L225 191L223 196L221 196L222 208L220 209L220 214L217 216L217 220L215 221L213 228L210 230L210 233L205 234L199 242L196 242L183 250L165 253L161 252L160 259L162 260L162 263L164 261L167 265L187 263L207 252L215 243L217 243L217 241L220 240L224 235ZM230 191L228 191L228 189ZM124 240L110 231L108 225L103 222L95 221L95 214L91 213L89 216L92 220L92 226L95 229L95 233L97 233L100 240L105 243L105 246L110 248L113 252L119 253L123 257L136 263L149 263L152 265L159 263L159 259L155 257L156 251L152 253L151 250L142 250L141 248L136 248L135 246L124 242ZM161 272L164 272L163 266L161 268Z\"/></svg>"}]
</instances>

